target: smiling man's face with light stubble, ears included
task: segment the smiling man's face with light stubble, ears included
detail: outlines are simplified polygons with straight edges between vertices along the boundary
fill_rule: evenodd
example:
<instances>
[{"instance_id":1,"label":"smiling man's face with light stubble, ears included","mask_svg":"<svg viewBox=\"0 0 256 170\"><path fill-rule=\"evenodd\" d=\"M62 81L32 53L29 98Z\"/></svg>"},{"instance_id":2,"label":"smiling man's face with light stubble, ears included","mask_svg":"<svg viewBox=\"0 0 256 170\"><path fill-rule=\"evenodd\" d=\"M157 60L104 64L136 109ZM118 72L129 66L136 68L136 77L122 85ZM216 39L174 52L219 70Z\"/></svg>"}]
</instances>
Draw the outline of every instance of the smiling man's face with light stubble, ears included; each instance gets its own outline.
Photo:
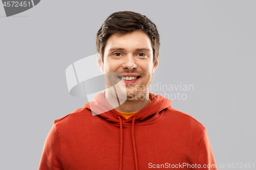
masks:
<instances>
[{"instance_id":1,"label":"smiling man's face with light stubble, ears included","mask_svg":"<svg viewBox=\"0 0 256 170\"><path fill-rule=\"evenodd\" d=\"M148 95L158 56L153 63L151 40L146 33L133 31L125 35L111 35L104 49L103 64L100 58L97 54L98 65L104 74L118 72L126 78L121 80L122 77L117 77L125 83L127 99L142 99ZM131 77L135 80L129 80Z\"/></svg>"}]
</instances>

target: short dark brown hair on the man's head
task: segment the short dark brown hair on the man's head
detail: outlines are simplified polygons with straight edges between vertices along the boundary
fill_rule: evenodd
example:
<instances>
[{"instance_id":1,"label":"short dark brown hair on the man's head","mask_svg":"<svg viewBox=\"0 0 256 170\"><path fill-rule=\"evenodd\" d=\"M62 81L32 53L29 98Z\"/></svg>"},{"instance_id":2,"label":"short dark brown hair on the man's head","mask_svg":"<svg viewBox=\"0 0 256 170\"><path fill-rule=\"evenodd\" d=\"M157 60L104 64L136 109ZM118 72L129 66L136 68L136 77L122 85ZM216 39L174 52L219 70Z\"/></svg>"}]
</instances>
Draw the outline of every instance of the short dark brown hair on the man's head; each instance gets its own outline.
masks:
<instances>
[{"instance_id":1,"label":"short dark brown hair on the man's head","mask_svg":"<svg viewBox=\"0 0 256 170\"><path fill-rule=\"evenodd\" d=\"M160 47L160 37L157 31L155 23L148 19L145 15L141 15L132 11L120 11L111 14L96 35L96 48L97 52L101 55L102 62L104 59L104 48L106 45L106 40L115 33L127 34L135 30L144 31L151 40L151 45L153 48L153 63L159 54Z\"/></svg>"}]
</instances>

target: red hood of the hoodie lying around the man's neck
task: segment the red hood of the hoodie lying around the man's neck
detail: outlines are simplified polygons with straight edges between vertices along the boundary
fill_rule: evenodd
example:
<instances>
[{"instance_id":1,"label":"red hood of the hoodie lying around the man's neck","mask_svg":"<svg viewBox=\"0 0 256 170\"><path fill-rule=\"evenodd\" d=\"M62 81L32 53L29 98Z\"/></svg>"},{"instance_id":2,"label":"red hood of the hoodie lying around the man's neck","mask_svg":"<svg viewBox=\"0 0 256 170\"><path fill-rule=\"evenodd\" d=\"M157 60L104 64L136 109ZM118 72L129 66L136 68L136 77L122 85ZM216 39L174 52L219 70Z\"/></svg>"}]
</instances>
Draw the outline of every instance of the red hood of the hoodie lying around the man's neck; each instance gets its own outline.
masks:
<instances>
[{"instance_id":1,"label":"red hood of the hoodie lying around the man's neck","mask_svg":"<svg viewBox=\"0 0 256 170\"><path fill-rule=\"evenodd\" d=\"M160 113L165 108L172 107L172 101L167 98L164 98L162 95L155 95L149 93L149 98L152 101L150 104L146 105L140 111L138 111L133 116L126 119L120 113L118 113L106 100L105 100L105 91L103 93L98 93L92 100L88 102L83 107L88 108L92 111L93 115L99 115L109 122L119 123L119 118L121 117L123 123L130 123L133 120L133 117L136 116L137 123L139 122L152 122L160 116ZM156 115L154 115L156 114ZM154 115L148 120L148 117Z\"/></svg>"}]
</instances>

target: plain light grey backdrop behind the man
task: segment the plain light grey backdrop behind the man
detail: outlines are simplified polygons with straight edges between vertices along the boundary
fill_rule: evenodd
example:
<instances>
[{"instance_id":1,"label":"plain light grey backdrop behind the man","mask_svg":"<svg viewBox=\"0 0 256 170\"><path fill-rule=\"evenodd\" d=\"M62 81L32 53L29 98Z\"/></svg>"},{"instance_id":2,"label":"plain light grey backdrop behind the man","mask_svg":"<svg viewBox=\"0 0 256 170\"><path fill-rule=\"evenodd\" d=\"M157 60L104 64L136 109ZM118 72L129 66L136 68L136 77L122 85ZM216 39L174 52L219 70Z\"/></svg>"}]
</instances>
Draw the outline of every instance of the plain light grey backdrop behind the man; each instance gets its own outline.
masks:
<instances>
[{"instance_id":1,"label":"plain light grey backdrop behind the man","mask_svg":"<svg viewBox=\"0 0 256 170\"><path fill-rule=\"evenodd\" d=\"M38 168L53 121L87 103L69 94L66 68L96 54L96 32L124 10L158 27L152 85L194 85L173 108L206 127L217 166L255 167L255 9L256 1L41 1L5 17L0 6L0 169Z\"/></svg>"}]
</instances>

